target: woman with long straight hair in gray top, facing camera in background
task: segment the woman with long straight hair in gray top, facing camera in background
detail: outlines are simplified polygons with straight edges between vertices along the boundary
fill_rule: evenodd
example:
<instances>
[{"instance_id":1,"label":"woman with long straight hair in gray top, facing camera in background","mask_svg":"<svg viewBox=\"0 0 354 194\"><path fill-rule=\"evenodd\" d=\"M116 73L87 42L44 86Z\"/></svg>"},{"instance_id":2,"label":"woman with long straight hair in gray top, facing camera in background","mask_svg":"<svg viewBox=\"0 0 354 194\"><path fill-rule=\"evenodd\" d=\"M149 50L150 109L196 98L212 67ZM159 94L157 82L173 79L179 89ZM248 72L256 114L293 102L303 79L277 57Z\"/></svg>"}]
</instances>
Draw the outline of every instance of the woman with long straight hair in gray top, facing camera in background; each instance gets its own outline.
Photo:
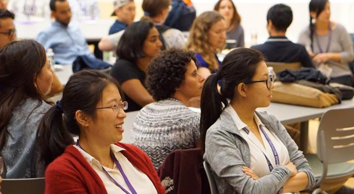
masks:
<instances>
[{"instance_id":1,"label":"woman with long straight hair in gray top, facing camera in background","mask_svg":"<svg viewBox=\"0 0 354 194\"><path fill-rule=\"evenodd\" d=\"M224 17L227 40L233 41L232 43L226 44L226 49L244 47L244 32L241 26L241 16L237 12L232 0L218 0L214 10Z\"/></svg>"}]
</instances>

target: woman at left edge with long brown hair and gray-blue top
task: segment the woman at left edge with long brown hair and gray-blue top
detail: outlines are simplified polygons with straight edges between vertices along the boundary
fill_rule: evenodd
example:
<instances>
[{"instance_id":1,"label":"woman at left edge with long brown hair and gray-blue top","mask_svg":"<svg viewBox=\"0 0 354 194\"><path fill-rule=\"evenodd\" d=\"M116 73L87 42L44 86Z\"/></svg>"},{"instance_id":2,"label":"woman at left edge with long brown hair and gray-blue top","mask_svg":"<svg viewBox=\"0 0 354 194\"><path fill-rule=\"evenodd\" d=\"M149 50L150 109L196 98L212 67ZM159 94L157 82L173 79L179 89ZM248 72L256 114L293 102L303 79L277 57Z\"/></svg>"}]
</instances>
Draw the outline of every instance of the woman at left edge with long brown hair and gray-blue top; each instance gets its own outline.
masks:
<instances>
[{"instance_id":1,"label":"woman at left edge with long brown hair and gray-blue top","mask_svg":"<svg viewBox=\"0 0 354 194\"><path fill-rule=\"evenodd\" d=\"M46 50L34 40L8 43L0 51L0 151L5 178L43 177L35 136L50 108L53 81Z\"/></svg>"}]
</instances>

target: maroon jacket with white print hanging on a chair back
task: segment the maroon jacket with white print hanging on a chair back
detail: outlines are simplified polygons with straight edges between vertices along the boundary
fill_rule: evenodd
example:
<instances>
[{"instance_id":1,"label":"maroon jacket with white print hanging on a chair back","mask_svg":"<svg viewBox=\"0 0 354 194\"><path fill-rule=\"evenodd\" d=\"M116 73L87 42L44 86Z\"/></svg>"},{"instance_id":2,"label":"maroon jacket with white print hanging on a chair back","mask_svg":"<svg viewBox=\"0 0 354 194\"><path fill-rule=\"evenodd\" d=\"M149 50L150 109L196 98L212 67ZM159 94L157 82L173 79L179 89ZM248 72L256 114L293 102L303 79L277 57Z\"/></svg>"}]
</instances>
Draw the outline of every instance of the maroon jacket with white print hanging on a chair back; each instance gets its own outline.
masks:
<instances>
[{"instance_id":1,"label":"maroon jacket with white print hanging on a chair back","mask_svg":"<svg viewBox=\"0 0 354 194\"><path fill-rule=\"evenodd\" d=\"M158 174L166 194L210 194L200 148L171 152Z\"/></svg>"}]
</instances>

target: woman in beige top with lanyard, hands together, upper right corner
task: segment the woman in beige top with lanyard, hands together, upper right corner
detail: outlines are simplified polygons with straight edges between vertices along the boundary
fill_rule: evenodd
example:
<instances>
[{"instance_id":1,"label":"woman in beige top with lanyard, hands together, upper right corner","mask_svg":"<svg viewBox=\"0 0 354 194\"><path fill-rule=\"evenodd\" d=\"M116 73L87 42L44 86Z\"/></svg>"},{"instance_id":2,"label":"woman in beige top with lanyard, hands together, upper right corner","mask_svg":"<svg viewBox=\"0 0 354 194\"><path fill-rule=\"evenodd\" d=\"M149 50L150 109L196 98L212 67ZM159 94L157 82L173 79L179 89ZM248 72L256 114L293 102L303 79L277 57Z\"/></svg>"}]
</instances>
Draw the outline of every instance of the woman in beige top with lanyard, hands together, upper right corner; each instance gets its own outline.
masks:
<instances>
[{"instance_id":1,"label":"woman in beige top with lanyard, hands together, upper right corner","mask_svg":"<svg viewBox=\"0 0 354 194\"><path fill-rule=\"evenodd\" d=\"M331 78L331 82L354 85L348 62L353 61L353 42L344 26L330 20L328 0L311 0L310 25L301 32L299 43L304 45L313 62ZM326 67L326 68L322 68Z\"/></svg>"}]
</instances>

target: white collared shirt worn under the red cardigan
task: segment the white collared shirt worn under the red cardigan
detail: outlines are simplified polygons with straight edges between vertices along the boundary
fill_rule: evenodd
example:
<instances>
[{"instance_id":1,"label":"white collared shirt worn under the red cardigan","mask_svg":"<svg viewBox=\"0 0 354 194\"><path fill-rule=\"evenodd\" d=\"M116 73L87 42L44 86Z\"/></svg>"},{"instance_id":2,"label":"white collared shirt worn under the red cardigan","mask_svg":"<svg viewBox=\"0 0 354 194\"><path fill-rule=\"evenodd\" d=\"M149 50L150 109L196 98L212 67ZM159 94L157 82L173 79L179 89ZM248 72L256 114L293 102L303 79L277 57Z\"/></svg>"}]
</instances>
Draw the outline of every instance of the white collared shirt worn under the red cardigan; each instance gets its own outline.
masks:
<instances>
[{"instance_id":1,"label":"white collared shirt worn under the red cardigan","mask_svg":"<svg viewBox=\"0 0 354 194\"><path fill-rule=\"evenodd\" d=\"M80 147L75 146L86 161L95 170L99 178L101 178L104 186L106 187L107 194L125 194L118 186L114 184L111 178L102 170L101 164L90 154L83 151ZM129 179L131 185L138 194L157 194L156 188L151 180L139 169L133 166L128 159L120 152L125 150L117 145L111 145L111 151L114 153L115 158L119 161L123 168L124 173ZM122 174L119 172L117 166L114 163L113 169L104 167L106 171L117 181L122 187L130 192L128 185L126 184Z\"/></svg>"}]
</instances>

